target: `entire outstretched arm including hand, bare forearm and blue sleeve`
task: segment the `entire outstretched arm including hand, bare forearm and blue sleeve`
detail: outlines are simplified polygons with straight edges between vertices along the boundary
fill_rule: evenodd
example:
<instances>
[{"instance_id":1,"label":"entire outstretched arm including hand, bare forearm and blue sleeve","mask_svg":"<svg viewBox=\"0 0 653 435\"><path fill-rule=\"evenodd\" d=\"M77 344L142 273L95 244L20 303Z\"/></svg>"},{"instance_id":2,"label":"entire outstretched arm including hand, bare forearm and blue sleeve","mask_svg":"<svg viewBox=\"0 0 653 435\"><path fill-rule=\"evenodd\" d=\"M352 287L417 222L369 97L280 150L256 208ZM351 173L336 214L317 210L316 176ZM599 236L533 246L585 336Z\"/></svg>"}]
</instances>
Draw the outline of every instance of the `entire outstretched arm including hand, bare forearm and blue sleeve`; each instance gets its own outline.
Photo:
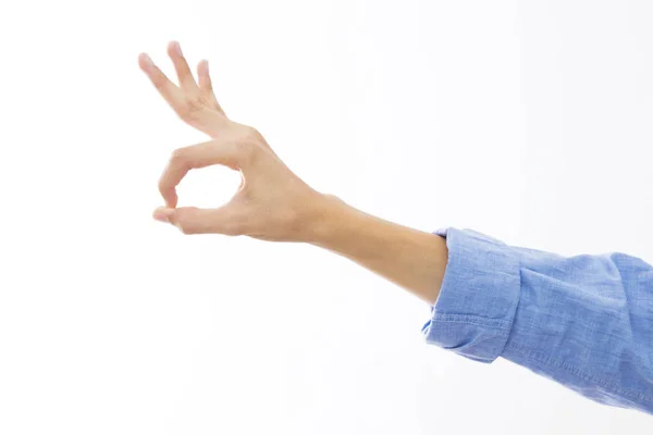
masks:
<instances>
[{"instance_id":1,"label":"entire outstretched arm including hand, bare forearm and blue sleeve","mask_svg":"<svg viewBox=\"0 0 653 435\"><path fill-rule=\"evenodd\" d=\"M346 257L431 304L429 344L492 362L503 357L600 401L653 413L653 268L623 253L565 258L472 231L436 234L357 210L310 188L256 129L226 117L208 65L195 83L178 45L172 84L147 55L140 67L175 112L212 139L175 150L159 181L155 219L184 234L309 243ZM215 209L177 208L193 169L239 171Z\"/></svg>"}]
</instances>

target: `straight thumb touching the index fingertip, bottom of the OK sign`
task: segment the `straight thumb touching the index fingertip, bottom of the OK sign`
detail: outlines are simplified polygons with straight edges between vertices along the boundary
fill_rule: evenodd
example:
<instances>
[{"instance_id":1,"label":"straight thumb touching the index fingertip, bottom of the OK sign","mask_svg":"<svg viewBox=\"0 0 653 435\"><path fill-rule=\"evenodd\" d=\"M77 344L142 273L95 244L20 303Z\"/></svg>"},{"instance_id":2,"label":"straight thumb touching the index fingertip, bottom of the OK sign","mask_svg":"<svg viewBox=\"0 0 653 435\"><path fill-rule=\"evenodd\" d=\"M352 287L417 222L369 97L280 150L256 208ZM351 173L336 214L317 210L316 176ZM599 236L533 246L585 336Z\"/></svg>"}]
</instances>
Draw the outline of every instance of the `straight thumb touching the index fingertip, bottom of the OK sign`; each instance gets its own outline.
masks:
<instances>
[{"instance_id":1,"label":"straight thumb touching the index fingertip, bottom of the OK sign","mask_svg":"<svg viewBox=\"0 0 653 435\"><path fill-rule=\"evenodd\" d=\"M225 206L218 209L159 207L152 217L176 226L184 234L215 233L235 236L241 234L243 223L242 219L236 219L233 209Z\"/></svg>"}]
</instances>

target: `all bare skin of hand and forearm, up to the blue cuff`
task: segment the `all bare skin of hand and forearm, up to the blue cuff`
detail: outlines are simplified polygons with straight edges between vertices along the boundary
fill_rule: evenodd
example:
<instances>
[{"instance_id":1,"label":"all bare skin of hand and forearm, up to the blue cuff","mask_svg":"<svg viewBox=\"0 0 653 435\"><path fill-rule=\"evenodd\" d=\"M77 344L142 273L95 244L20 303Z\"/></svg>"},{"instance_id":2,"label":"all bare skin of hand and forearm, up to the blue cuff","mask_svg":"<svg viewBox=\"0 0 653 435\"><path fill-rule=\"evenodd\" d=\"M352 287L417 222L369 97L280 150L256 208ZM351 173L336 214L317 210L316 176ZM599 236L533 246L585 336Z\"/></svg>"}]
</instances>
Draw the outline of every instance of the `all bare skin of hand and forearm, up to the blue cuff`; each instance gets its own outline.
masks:
<instances>
[{"instance_id":1,"label":"all bare skin of hand and forearm, up to the blue cuff","mask_svg":"<svg viewBox=\"0 0 653 435\"><path fill-rule=\"evenodd\" d=\"M348 258L421 300L438 299L446 269L445 240L358 210L301 181L254 127L230 120L212 89L208 61L197 65L197 80L176 41L168 46L177 84L145 53L140 70L188 125L210 140L176 149L159 179L164 206L158 221L183 234L249 236L268 241L307 243ZM188 171L219 164L242 175L232 199L215 209L176 207L175 187Z\"/></svg>"}]
</instances>

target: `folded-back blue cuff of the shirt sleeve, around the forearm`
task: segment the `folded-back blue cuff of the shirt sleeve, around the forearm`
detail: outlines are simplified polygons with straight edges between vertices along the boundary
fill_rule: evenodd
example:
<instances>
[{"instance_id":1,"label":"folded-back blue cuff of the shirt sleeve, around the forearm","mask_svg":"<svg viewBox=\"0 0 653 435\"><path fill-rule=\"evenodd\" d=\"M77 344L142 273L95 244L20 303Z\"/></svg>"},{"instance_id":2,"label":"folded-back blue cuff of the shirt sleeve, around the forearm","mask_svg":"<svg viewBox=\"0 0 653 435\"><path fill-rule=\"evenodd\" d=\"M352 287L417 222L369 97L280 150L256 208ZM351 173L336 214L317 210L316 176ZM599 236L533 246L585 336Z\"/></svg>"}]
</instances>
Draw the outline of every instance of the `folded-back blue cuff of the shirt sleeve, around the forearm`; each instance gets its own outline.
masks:
<instances>
[{"instance_id":1,"label":"folded-back blue cuff of the shirt sleeve, around the forearm","mask_svg":"<svg viewBox=\"0 0 653 435\"><path fill-rule=\"evenodd\" d=\"M519 302L519 257L506 244L455 227L433 234L446 239L448 262L431 319L422 326L427 344L480 362L503 351Z\"/></svg>"}]
</instances>

